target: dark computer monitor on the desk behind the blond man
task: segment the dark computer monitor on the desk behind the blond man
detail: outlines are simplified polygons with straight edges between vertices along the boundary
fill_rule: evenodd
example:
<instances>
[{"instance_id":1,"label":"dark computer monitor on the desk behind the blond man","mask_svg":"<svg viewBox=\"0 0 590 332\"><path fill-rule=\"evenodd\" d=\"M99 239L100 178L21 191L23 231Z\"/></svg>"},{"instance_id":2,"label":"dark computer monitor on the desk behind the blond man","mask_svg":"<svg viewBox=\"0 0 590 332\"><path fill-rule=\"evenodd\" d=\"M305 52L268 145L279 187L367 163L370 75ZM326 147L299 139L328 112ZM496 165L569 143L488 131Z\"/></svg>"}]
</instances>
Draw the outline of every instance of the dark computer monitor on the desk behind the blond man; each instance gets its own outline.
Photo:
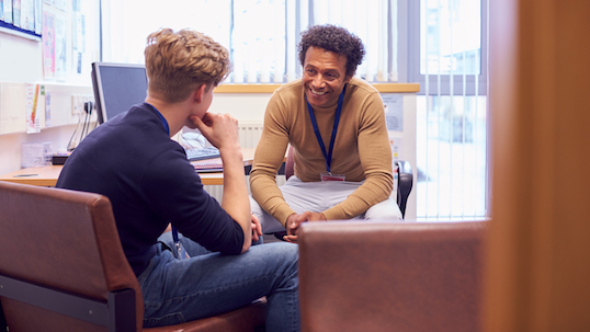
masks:
<instances>
[{"instance_id":1,"label":"dark computer monitor on the desk behind the blond man","mask_svg":"<svg viewBox=\"0 0 590 332\"><path fill-rule=\"evenodd\" d=\"M143 65L93 62L92 88L98 121L102 124L146 100L146 68Z\"/></svg>"}]
</instances>

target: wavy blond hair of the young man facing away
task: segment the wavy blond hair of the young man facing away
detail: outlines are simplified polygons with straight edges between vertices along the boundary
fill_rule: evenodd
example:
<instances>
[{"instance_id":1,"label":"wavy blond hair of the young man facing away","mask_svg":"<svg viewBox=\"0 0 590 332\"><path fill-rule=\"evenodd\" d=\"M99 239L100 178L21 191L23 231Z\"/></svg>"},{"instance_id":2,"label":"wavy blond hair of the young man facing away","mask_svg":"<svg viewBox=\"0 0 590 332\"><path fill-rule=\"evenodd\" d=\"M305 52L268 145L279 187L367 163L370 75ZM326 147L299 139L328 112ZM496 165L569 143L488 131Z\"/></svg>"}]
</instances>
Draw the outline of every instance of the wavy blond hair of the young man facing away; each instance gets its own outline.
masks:
<instances>
[{"instance_id":1,"label":"wavy blond hair of the young man facing away","mask_svg":"<svg viewBox=\"0 0 590 332\"><path fill-rule=\"evenodd\" d=\"M227 48L190 28L151 33L144 55L148 90L168 103L185 100L201 84L217 87L231 70Z\"/></svg>"}]
</instances>

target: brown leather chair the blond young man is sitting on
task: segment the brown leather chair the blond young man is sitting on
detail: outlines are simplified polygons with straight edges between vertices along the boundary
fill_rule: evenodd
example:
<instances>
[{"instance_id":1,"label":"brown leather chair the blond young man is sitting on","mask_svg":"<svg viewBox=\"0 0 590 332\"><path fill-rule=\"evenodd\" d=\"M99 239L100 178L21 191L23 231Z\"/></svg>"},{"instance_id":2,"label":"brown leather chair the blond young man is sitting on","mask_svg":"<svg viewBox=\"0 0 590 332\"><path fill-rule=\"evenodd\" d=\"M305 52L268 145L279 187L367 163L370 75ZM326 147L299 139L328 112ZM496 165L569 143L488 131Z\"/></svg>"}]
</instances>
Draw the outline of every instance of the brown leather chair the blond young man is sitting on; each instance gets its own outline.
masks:
<instances>
[{"instance_id":1,"label":"brown leather chair the blond young man is sitting on","mask_svg":"<svg viewBox=\"0 0 590 332\"><path fill-rule=\"evenodd\" d=\"M264 324L259 301L143 329L139 284L102 195L0 181L0 311L10 331L246 332Z\"/></svg>"}]
</instances>

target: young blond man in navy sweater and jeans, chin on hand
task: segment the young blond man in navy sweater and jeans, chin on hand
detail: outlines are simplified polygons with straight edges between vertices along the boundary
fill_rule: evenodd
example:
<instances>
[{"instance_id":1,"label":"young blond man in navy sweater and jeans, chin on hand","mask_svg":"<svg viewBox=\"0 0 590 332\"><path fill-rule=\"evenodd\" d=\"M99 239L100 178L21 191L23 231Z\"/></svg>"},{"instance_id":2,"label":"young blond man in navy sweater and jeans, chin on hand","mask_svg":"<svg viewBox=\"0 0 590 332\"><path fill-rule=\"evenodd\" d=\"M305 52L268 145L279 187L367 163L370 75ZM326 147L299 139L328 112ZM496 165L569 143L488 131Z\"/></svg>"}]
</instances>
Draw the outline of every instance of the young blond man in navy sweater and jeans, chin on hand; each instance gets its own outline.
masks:
<instances>
[{"instance_id":1,"label":"young blond man in navy sweater and jeans, chin on hand","mask_svg":"<svg viewBox=\"0 0 590 332\"><path fill-rule=\"evenodd\" d=\"M237 121L207 113L230 70L227 49L201 33L164 28L148 36L145 56L145 103L94 129L57 186L110 198L141 287L145 327L211 317L266 296L266 330L298 331L297 247L250 247L261 232L250 214ZM219 149L220 204L170 139L184 126ZM169 225L173 231L162 234ZM172 241L177 229L180 240ZM177 251L181 244L188 255Z\"/></svg>"}]
</instances>

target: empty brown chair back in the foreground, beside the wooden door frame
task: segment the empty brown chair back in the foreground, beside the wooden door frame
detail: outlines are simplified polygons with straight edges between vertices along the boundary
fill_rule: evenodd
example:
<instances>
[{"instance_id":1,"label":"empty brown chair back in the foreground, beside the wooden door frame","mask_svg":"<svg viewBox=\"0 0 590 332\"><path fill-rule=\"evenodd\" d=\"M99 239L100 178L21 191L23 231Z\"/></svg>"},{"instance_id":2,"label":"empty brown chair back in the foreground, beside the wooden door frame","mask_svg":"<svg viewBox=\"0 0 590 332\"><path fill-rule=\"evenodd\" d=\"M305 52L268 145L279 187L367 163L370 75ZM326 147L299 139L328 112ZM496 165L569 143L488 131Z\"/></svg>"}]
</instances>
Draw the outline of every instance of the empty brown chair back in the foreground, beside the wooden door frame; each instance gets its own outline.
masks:
<instances>
[{"instance_id":1,"label":"empty brown chair back in the foreground, beside the wooden door frame","mask_svg":"<svg viewBox=\"0 0 590 332\"><path fill-rule=\"evenodd\" d=\"M487 222L304 224L302 331L481 331Z\"/></svg>"}]
</instances>

